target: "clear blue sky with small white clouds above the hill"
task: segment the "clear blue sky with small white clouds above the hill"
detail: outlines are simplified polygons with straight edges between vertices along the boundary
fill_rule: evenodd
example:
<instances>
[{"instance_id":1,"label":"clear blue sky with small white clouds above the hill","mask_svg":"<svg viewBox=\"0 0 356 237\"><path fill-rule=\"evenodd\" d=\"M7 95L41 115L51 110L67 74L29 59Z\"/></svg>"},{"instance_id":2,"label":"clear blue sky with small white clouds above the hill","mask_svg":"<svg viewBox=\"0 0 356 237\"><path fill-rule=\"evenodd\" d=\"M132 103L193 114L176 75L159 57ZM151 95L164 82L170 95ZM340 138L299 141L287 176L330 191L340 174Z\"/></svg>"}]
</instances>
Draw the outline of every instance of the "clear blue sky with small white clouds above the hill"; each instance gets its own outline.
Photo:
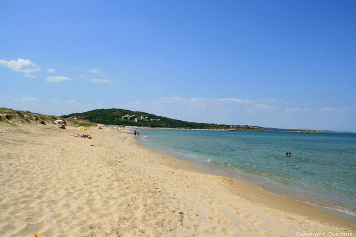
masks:
<instances>
[{"instance_id":1,"label":"clear blue sky with small white clouds above the hill","mask_svg":"<svg viewBox=\"0 0 356 237\"><path fill-rule=\"evenodd\" d=\"M0 106L356 131L355 1L0 1Z\"/></svg>"}]
</instances>

